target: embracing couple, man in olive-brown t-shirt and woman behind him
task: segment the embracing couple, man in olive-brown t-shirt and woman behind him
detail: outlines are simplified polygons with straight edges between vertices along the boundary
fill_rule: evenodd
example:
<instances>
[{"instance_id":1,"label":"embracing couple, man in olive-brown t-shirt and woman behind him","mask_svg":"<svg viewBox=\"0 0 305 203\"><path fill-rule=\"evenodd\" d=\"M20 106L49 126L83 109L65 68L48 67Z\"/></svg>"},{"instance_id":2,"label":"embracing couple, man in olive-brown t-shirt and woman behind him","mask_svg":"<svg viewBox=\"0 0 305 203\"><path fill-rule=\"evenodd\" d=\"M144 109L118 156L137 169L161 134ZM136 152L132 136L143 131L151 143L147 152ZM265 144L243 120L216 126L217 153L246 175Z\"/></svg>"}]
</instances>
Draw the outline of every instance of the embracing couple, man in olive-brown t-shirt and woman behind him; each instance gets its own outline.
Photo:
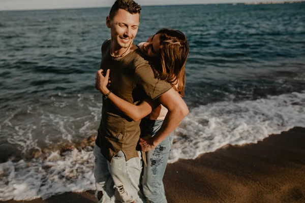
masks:
<instances>
[{"instance_id":1,"label":"embracing couple, man in olive-brown t-shirt and woman behind him","mask_svg":"<svg viewBox=\"0 0 305 203\"><path fill-rule=\"evenodd\" d=\"M94 148L99 202L167 202L163 176L172 132L189 113L185 87L187 38L161 29L133 44L141 7L117 0L106 25L95 87L103 94L102 119ZM140 127L141 126L141 127Z\"/></svg>"}]
</instances>

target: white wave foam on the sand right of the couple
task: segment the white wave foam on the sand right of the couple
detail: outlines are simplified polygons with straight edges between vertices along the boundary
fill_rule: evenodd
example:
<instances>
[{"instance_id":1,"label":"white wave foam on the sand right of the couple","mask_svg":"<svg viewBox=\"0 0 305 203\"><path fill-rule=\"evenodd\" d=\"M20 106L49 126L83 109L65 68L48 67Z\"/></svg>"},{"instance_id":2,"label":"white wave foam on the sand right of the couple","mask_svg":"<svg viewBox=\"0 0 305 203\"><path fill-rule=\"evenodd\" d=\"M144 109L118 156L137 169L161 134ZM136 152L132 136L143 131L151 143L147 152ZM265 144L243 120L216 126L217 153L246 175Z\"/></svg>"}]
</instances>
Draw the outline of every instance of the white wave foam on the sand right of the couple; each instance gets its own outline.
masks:
<instances>
[{"instance_id":1,"label":"white wave foam on the sand right of the couple","mask_svg":"<svg viewBox=\"0 0 305 203\"><path fill-rule=\"evenodd\" d=\"M305 92L200 106L175 130L169 162L194 159L227 144L257 143L294 126L305 127L304 112Z\"/></svg>"}]
</instances>

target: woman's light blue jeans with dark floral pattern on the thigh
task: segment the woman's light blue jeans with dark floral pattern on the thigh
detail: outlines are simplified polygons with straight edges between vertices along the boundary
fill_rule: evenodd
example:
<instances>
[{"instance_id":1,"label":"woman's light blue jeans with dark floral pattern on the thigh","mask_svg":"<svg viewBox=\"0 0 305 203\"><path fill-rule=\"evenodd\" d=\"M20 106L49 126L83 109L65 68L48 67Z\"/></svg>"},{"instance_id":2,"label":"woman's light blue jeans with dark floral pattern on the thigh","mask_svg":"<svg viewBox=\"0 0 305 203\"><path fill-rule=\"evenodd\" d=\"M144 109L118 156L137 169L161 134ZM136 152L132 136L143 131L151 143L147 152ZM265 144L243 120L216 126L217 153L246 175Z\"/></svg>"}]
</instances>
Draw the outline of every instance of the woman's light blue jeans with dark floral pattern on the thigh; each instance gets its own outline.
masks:
<instances>
[{"instance_id":1,"label":"woman's light blue jeans with dark floral pattern on the thigh","mask_svg":"<svg viewBox=\"0 0 305 203\"><path fill-rule=\"evenodd\" d=\"M142 132L154 136L160 129L163 120L142 119ZM172 134L162 141L154 150L146 152L147 166L144 166L143 193L151 203L166 203L163 176L165 173Z\"/></svg>"}]
</instances>

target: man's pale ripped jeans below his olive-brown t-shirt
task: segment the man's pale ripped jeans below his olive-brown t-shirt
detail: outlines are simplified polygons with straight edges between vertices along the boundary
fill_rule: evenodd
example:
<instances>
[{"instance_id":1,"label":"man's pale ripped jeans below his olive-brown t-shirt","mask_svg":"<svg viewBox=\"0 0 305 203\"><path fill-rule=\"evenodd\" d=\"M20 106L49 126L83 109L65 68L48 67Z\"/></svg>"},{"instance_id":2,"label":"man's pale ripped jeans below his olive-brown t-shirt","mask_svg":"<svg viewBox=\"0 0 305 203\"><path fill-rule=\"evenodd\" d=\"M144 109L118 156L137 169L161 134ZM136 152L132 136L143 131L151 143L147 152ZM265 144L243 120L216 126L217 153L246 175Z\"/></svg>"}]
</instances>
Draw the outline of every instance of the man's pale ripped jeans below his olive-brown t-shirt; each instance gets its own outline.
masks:
<instances>
[{"instance_id":1,"label":"man's pale ripped jeans below his olive-brown t-shirt","mask_svg":"<svg viewBox=\"0 0 305 203\"><path fill-rule=\"evenodd\" d=\"M99 146L95 145L94 176L97 191L103 196L99 203L146 203L140 187L142 160L133 157L126 161L123 151L119 151L112 159L112 164L103 156ZM114 189L115 188L115 189Z\"/></svg>"}]
</instances>

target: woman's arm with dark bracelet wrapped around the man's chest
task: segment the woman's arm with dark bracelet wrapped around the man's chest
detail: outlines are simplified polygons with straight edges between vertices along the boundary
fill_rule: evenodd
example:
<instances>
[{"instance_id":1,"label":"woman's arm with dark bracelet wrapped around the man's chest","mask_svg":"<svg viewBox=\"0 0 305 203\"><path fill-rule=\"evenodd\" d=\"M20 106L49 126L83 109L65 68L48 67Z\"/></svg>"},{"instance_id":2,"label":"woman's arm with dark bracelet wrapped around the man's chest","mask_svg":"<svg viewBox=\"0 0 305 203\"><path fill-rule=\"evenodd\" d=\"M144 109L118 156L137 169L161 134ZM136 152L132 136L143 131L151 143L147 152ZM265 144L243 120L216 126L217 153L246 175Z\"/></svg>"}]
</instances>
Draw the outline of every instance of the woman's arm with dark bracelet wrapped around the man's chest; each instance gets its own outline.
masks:
<instances>
[{"instance_id":1,"label":"woman's arm with dark bracelet wrapped around the man's chest","mask_svg":"<svg viewBox=\"0 0 305 203\"><path fill-rule=\"evenodd\" d=\"M103 76L102 73L103 70L98 71L95 86L98 90L100 90L102 94L106 95L109 93L109 89L107 88L107 85L108 85L110 70L109 69L107 70L105 77ZM155 108L157 108L160 105L149 98L146 98L143 101L141 101L139 105L133 105L128 101L116 96L112 92L110 92L110 94L108 95L108 99L111 100L111 102L118 110L125 113L128 117L130 117L134 121L138 121L144 118L145 116L150 114L151 111L153 111Z\"/></svg>"}]
</instances>

